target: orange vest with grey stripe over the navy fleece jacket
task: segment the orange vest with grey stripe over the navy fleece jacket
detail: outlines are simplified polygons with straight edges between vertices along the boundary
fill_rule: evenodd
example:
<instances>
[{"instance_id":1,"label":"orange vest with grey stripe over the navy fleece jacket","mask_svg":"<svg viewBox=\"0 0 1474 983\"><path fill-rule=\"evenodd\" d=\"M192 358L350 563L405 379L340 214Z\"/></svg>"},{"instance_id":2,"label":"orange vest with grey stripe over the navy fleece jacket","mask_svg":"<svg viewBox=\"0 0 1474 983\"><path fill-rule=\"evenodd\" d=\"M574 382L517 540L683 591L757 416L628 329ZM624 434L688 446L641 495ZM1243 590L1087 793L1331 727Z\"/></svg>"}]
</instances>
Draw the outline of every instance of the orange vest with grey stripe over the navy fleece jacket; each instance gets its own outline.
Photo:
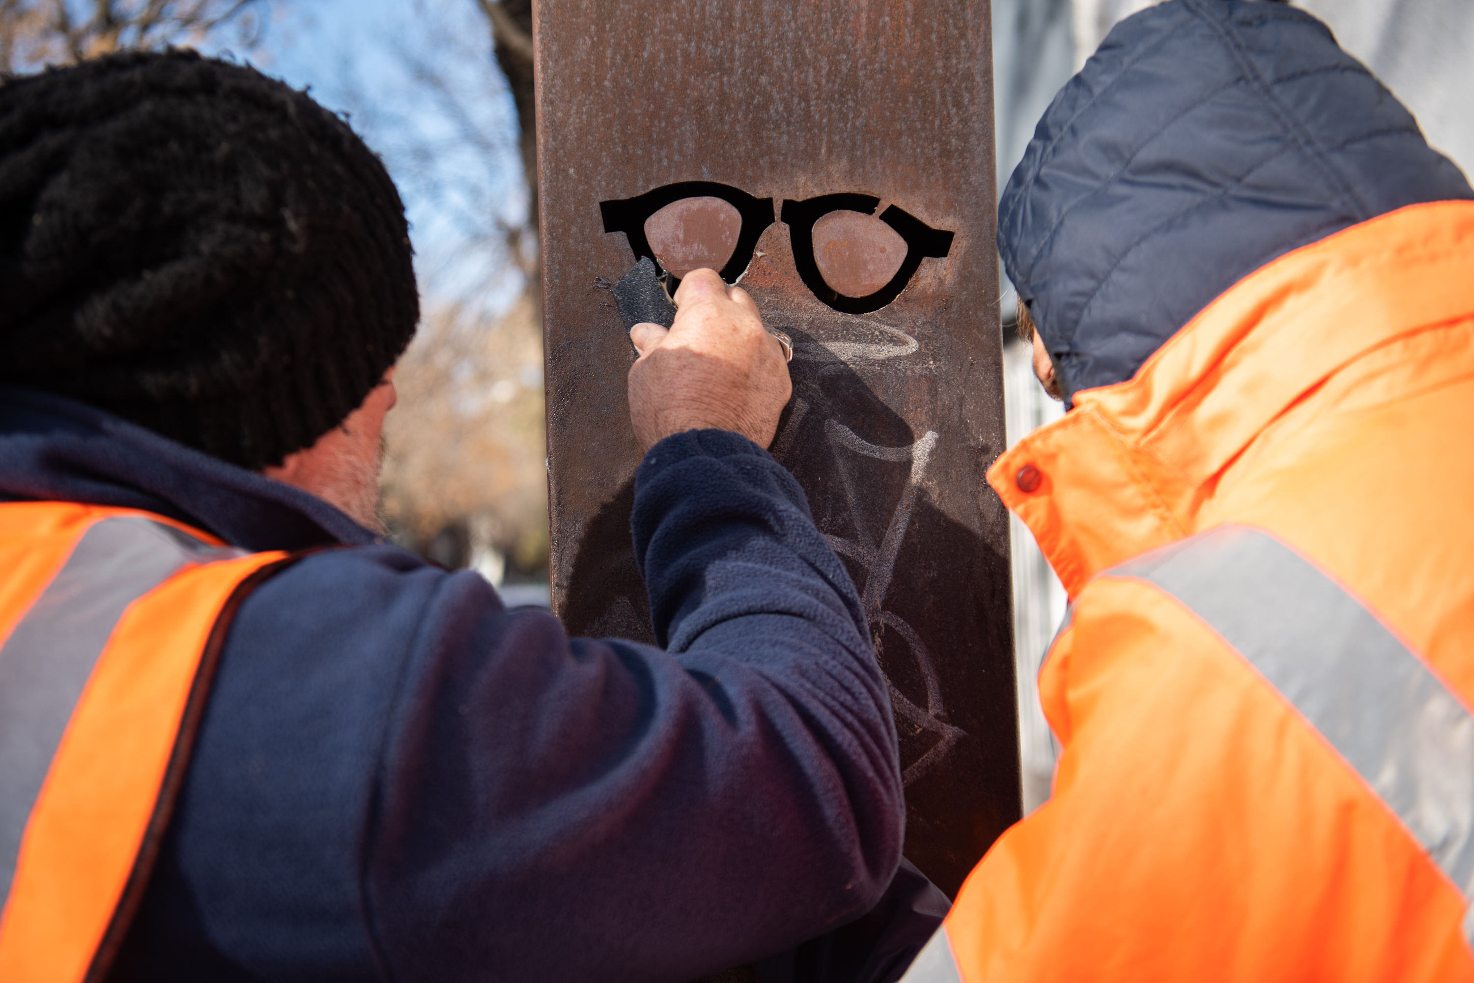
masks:
<instances>
[{"instance_id":1,"label":"orange vest with grey stripe over the navy fleece jacket","mask_svg":"<svg viewBox=\"0 0 1474 983\"><path fill-rule=\"evenodd\" d=\"M234 609L287 560L127 508L0 504L0 980L106 971Z\"/></svg>"}]
</instances>

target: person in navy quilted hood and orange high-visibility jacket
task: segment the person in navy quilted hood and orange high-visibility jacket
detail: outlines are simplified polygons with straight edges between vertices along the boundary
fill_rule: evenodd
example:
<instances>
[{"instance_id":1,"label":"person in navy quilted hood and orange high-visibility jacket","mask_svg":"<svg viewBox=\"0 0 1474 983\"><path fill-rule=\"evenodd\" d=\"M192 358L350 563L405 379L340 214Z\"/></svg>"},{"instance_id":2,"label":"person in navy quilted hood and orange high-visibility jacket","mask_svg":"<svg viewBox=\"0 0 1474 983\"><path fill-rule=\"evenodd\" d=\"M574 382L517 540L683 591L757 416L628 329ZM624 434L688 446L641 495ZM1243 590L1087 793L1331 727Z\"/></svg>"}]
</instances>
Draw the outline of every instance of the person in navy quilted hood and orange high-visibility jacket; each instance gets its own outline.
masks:
<instances>
[{"instance_id":1,"label":"person in navy quilted hood and orange high-visibility jacket","mask_svg":"<svg viewBox=\"0 0 1474 983\"><path fill-rule=\"evenodd\" d=\"M1170 0L998 243L1066 416L1052 797L907 983L1474 979L1474 192L1315 18Z\"/></svg>"}]
</instances>

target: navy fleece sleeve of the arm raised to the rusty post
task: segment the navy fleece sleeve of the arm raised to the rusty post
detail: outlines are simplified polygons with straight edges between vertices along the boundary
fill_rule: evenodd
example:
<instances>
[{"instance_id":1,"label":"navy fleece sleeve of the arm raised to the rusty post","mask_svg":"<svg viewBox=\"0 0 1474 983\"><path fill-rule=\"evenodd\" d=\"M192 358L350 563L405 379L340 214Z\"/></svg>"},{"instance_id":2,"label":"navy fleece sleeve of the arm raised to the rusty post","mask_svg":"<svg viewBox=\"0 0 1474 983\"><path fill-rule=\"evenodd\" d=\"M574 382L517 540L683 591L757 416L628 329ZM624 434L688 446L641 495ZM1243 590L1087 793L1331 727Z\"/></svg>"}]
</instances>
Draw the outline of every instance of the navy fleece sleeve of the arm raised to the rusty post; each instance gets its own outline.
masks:
<instances>
[{"instance_id":1,"label":"navy fleece sleeve of the arm raised to the rusty post","mask_svg":"<svg viewBox=\"0 0 1474 983\"><path fill-rule=\"evenodd\" d=\"M672 436L632 534L663 650L438 590L366 843L392 977L690 980L890 881L886 682L797 483L734 433Z\"/></svg>"}]
</instances>

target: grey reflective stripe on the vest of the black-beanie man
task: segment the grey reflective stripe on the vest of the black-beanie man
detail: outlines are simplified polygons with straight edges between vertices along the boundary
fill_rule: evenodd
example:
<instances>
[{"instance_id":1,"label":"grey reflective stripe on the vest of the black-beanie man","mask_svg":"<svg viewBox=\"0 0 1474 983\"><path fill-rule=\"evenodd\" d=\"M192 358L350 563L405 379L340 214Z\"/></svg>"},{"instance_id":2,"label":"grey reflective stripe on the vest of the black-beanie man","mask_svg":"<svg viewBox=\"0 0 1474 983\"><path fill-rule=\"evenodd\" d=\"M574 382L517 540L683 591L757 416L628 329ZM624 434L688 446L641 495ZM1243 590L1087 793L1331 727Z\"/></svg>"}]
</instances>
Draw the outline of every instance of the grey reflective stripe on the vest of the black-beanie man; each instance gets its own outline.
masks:
<instances>
[{"instance_id":1,"label":"grey reflective stripe on the vest of the black-beanie man","mask_svg":"<svg viewBox=\"0 0 1474 983\"><path fill-rule=\"evenodd\" d=\"M0 647L0 903L52 758L122 612L187 563L237 556L139 516L103 519Z\"/></svg>"}]
</instances>

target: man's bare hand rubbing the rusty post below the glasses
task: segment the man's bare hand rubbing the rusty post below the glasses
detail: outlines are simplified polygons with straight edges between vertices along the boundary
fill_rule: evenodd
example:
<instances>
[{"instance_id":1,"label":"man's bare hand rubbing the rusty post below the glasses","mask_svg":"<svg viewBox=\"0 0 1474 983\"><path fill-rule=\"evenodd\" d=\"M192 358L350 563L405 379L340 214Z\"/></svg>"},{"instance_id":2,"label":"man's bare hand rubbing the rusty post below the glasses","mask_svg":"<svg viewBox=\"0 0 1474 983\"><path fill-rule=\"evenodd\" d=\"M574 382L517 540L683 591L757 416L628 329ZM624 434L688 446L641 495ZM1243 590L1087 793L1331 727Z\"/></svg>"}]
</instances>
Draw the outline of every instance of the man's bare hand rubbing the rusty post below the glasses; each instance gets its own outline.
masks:
<instances>
[{"instance_id":1,"label":"man's bare hand rubbing the rusty post below the glasses","mask_svg":"<svg viewBox=\"0 0 1474 983\"><path fill-rule=\"evenodd\" d=\"M793 383L783 346L762 327L746 290L693 270L675 292L669 330L635 324L640 360L629 368L629 421L650 449L672 433L734 430L768 447Z\"/></svg>"}]
</instances>

